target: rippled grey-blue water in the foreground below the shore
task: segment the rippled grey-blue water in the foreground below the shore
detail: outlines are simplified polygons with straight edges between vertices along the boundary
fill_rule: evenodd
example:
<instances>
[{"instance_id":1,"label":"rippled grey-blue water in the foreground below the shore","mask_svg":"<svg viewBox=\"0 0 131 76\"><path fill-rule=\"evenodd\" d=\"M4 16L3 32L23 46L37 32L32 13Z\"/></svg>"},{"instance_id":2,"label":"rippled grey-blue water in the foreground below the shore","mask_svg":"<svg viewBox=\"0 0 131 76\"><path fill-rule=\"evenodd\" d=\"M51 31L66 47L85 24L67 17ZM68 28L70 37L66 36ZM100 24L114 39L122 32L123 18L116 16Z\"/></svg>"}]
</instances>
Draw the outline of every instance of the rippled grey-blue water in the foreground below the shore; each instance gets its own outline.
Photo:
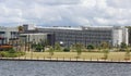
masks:
<instances>
[{"instance_id":1,"label":"rippled grey-blue water in the foreground below the shore","mask_svg":"<svg viewBox=\"0 0 131 76\"><path fill-rule=\"evenodd\" d=\"M0 76L131 76L131 64L0 61Z\"/></svg>"}]
</instances>

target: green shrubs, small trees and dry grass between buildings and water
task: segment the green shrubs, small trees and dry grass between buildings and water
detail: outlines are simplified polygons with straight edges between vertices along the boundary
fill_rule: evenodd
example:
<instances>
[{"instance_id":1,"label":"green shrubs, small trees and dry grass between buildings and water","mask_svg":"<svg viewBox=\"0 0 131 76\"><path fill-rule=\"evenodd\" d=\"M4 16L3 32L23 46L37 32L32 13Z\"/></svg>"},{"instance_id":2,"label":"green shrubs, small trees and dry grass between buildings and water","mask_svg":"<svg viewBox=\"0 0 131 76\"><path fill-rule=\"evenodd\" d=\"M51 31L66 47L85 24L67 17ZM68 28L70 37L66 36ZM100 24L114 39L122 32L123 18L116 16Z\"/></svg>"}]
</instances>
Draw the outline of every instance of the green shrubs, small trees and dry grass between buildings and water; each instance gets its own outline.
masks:
<instances>
[{"instance_id":1,"label":"green shrubs, small trees and dry grass between buildings and water","mask_svg":"<svg viewBox=\"0 0 131 76\"><path fill-rule=\"evenodd\" d=\"M107 42L103 42L100 47L88 45L84 47L81 43L71 46L70 48L63 48L59 43L55 47L41 45L31 45L29 51L24 51L25 48L8 48L0 51L1 58L19 58L19 59L52 59L52 60L94 60L94 61L130 61L130 47L126 43L121 43L117 48L110 47ZM27 49L27 47L26 47Z\"/></svg>"}]
</instances>

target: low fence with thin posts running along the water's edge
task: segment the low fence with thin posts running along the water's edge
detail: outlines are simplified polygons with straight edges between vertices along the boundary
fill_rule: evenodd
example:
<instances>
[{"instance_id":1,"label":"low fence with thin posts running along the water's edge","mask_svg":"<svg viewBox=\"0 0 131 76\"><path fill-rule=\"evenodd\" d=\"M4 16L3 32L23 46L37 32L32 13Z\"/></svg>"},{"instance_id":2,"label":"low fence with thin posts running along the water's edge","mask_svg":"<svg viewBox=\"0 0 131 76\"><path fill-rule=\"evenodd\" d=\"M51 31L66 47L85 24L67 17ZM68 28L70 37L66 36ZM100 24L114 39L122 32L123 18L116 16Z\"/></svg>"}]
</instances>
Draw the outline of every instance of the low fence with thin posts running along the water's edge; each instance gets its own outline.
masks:
<instances>
[{"instance_id":1,"label":"low fence with thin posts running along the water's edge","mask_svg":"<svg viewBox=\"0 0 131 76\"><path fill-rule=\"evenodd\" d=\"M62 59L59 59L59 58L39 58L39 56L36 56L36 58L27 58L27 56L24 56L24 58L0 58L0 60L5 60L5 61L48 61L48 62L93 62L93 63L131 63L130 60L102 60L102 59L97 59L97 60L93 60L92 58L90 60L86 60L86 59L82 59L82 58L70 58L70 59L66 59L66 58L62 58Z\"/></svg>"}]
</instances>

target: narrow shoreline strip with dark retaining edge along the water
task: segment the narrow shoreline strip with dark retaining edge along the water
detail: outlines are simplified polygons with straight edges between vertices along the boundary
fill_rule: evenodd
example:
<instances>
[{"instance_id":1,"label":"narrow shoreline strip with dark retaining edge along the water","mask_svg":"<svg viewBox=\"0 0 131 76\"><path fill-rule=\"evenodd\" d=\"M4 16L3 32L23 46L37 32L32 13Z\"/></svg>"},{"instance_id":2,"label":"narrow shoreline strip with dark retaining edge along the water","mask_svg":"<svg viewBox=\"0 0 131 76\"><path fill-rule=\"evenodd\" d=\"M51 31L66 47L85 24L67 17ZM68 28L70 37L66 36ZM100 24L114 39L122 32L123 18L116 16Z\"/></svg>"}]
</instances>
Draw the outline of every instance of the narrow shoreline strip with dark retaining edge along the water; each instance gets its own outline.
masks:
<instances>
[{"instance_id":1,"label":"narrow shoreline strip with dark retaining edge along the water","mask_svg":"<svg viewBox=\"0 0 131 76\"><path fill-rule=\"evenodd\" d=\"M82 62L82 63L128 63L131 61L112 60L82 60L82 59L31 59L31 58L0 58L0 61L40 61L40 62Z\"/></svg>"}]
</instances>

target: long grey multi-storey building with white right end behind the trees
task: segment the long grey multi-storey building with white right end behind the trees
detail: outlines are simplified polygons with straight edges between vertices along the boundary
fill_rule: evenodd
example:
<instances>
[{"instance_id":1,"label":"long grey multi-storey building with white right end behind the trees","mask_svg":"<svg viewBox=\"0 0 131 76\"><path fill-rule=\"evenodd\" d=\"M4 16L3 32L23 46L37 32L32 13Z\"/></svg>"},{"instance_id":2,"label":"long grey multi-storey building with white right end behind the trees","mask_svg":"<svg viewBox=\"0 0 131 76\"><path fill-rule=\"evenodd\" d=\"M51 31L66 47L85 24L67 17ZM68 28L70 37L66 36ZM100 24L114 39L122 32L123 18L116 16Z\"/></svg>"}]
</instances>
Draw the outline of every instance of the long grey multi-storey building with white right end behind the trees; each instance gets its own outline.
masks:
<instances>
[{"instance_id":1,"label":"long grey multi-storey building with white right end behind the trees","mask_svg":"<svg viewBox=\"0 0 131 76\"><path fill-rule=\"evenodd\" d=\"M50 45L55 42L70 47L73 43L100 45L106 41L112 46L128 45L128 28L123 26L82 26L82 27L37 27L36 33L47 34ZM26 33L32 33L27 30Z\"/></svg>"}]
</instances>

